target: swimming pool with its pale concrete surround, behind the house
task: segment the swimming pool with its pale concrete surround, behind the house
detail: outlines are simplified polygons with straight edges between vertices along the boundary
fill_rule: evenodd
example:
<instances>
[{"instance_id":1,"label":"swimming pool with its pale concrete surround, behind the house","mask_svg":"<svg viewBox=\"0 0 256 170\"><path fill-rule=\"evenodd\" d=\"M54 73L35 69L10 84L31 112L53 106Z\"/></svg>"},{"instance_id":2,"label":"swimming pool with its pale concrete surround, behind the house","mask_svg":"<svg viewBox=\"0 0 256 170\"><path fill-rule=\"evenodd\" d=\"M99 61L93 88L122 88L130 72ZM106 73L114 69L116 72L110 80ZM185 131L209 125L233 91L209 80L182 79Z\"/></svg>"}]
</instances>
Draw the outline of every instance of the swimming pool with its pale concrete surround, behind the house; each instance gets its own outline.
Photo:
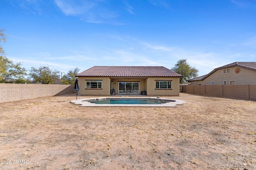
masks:
<instances>
[{"instance_id":1,"label":"swimming pool with its pale concrete surround, behind the house","mask_svg":"<svg viewBox=\"0 0 256 170\"><path fill-rule=\"evenodd\" d=\"M82 107L176 107L176 105L183 105L185 102L152 97L106 97L72 100L71 103L79 104Z\"/></svg>"}]
</instances>

